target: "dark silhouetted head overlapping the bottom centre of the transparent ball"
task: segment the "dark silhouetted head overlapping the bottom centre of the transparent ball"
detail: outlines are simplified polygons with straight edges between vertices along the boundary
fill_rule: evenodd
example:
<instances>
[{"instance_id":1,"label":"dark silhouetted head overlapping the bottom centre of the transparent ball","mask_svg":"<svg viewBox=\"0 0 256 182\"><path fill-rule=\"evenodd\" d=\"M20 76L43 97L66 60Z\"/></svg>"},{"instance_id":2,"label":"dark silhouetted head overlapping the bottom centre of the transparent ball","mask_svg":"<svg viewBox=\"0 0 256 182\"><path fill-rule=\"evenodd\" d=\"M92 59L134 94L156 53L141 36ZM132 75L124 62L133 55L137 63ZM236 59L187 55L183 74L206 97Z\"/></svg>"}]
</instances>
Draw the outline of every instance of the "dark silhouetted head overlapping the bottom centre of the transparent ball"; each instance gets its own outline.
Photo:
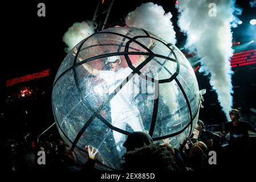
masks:
<instances>
[{"instance_id":1,"label":"dark silhouetted head overlapping the bottom centre of the transparent ball","mask_svg":"<svg viewBox=\"0 0 256 182\"><path fill-rule=\"evenodd\" d=\"M127 140L124 142L123 146L126 151L135 150L135 148L141 148L148 146L153 143L151 136L143 131L135 131L128 135Z\"/></svg>"}]
</instances>

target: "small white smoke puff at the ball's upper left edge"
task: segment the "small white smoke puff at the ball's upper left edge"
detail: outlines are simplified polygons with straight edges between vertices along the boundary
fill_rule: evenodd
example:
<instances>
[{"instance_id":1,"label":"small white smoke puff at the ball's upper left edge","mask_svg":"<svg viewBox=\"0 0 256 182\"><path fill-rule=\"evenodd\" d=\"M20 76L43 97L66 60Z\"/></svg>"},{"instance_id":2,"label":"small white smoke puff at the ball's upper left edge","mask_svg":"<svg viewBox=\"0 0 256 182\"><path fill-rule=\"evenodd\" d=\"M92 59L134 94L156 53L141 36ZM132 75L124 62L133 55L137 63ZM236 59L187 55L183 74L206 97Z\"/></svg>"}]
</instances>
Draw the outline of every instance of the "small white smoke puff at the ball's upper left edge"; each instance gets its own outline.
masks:
<instances>
[{"instance_id":1,"label":"small white smoke puff at the ball's upper left edge","mask_svg":"<svg viewBox=\"0 0 256 182\"><path fill-rule=\"evenodd\" d=\"M70 51L80 41L94 34L94 30L94 24L90 20L86 20L86 22L83 21L81 23L74 23L70 28L68 28L62 38L63 42L67 44L65 52Z\"/></svg>"}]
</instances>

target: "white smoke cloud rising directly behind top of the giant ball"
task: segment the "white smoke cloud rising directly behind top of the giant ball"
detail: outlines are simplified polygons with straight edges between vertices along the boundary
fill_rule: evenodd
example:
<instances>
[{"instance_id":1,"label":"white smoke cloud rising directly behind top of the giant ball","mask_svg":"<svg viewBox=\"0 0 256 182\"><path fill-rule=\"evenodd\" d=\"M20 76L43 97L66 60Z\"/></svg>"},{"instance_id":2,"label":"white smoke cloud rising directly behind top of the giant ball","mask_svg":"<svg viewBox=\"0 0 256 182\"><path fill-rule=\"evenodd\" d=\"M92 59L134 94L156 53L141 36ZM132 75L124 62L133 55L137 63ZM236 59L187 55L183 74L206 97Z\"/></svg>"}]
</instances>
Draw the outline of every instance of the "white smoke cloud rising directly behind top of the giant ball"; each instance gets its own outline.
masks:
<instances>
[{"instance_id":1,"label":"white smoke cloud rising directly behind top of the giant ball","mask_svg":"<svg viewBox=\"0 0 256 182\"><path fill-rule=\"evenodd\" d=\"M125 24L130 27L144 28L159 34L168 43L176 43L175 31L170 19L172 14L165 13L162 6L152 2L144 3L125 17Z\"/></svg>"}]
</instances>

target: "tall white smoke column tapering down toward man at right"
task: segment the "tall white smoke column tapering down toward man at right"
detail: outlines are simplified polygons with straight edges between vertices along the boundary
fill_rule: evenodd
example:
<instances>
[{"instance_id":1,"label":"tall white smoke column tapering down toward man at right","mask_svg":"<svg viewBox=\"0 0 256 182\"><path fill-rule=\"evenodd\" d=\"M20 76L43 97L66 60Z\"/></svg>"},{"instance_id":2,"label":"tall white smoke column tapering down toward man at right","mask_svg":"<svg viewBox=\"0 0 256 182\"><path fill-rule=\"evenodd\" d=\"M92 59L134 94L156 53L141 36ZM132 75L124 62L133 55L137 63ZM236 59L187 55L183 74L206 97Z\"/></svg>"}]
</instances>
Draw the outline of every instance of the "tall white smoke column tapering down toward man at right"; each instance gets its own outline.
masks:
<instances>
[{"instance_id":1,"label":"tall white smoke column tapering down toward man at right","mask_svg":"<svg viewBox=\"0 0 256 182\"><path fill-rule=\"evenodd\" d=\"M230 23L234 19L234 2L180 0L176 6L180 12L178 26L188 35L186 47L202 58L200 70L210 76L210 84L228 119L233 104L229 59L233 55Z\"/></svg>"}]
</instances>

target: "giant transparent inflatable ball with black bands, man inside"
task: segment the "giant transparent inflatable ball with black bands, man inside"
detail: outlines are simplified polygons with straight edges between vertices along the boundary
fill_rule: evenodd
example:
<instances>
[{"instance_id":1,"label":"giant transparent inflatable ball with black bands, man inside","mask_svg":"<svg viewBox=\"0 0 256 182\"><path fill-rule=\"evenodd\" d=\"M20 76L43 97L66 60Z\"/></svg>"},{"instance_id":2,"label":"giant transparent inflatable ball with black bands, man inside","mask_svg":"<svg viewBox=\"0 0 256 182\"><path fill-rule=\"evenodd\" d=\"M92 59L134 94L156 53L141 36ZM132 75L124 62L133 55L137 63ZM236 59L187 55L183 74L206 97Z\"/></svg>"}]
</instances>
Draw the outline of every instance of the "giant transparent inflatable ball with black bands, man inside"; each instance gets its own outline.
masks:
<instances>
[{"instance_id":1,"label":"giant transparent inflatable ball with black bands, man inside","mask_svg":"<svg viewBox=\"0 0 256 182\"><path fill-rule=\"evenodd\" d=\"M198 119L200 93L182 52L153 32L115 27L72 49L52 89L59 133L80 160L90 145L96 168L120 169L129 133L145 131L155 142L179 144Z\"/></svg>"}]
</instances>

